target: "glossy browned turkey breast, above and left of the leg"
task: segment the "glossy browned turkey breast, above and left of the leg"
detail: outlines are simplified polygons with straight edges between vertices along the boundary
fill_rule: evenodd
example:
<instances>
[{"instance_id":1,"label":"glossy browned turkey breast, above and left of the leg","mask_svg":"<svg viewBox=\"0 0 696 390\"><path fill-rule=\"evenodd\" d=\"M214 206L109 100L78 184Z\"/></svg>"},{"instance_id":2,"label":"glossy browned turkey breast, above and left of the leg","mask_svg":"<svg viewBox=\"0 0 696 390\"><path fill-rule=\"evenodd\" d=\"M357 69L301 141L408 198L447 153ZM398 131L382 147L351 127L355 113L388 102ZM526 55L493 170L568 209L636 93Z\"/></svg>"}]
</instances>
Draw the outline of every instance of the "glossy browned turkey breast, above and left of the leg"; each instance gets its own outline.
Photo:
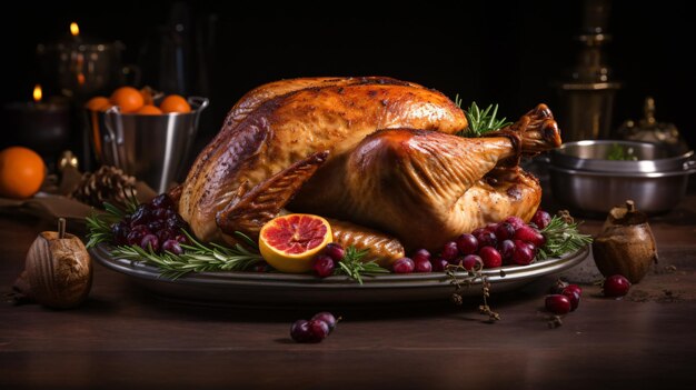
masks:
<instances>
[{"instance_id":1,"label":"glossy browned turkey breast, above and left of the leg","mask_svg":"<svg viewBox=\"0 0 696 390\"><path fill-rule=\"evenodd\" d=\"M389 78L262 86L232 108L197 158L181 187L179 212L199 239L219 241L231 231L221 231L216 220L236 197L314 153L328 151L329 162L379 129L454 133L466 126L464 112L444 94Z\"/></svg>"}]
</instances>

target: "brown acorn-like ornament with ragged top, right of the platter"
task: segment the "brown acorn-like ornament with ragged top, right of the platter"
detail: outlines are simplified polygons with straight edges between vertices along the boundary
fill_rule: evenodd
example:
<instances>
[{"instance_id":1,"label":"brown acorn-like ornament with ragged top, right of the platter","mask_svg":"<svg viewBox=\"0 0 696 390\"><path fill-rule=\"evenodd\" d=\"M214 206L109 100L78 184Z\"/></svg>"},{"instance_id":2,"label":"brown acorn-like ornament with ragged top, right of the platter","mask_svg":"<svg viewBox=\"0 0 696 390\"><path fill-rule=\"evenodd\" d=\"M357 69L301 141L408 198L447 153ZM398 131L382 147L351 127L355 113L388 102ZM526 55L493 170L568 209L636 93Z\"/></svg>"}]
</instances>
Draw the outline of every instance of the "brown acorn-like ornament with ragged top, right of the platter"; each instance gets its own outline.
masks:
<instances>
[{"instance_id":1,"label":"brown acorn-like ornament with ragged top, right of the platter","mask_svg":"<svg viewBox=\"0 0 696 390\"><path fill-rule=\"evenodd\" d=\"M657 262L657 248L645 213L633 200L609 211L601 232L593 241L593 256L605 277L623 274L639 282Z\"/></svg>"}]
</instances>

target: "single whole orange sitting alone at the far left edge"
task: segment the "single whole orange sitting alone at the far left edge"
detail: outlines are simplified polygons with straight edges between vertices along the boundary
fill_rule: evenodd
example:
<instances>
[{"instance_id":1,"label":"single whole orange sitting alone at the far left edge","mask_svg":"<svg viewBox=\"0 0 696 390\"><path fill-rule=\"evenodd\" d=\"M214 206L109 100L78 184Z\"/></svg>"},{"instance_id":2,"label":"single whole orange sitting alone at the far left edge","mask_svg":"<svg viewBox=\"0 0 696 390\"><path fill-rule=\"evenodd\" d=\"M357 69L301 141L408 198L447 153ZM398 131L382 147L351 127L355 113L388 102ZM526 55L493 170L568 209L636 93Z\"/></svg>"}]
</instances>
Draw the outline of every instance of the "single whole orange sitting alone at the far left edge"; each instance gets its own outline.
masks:
<instances>
[{"instance_id":1,"label":"single whole orange sitting alone at the far left edge","mask_svg":"<svg viewBox=\"0 0 696 390\"><path fill-rule=\"evenodd\" d=\"M0 194L8 198L29 198L39 191L46 178L41 156L24 147L0 151Z\"/></svg>"}]
</instances>

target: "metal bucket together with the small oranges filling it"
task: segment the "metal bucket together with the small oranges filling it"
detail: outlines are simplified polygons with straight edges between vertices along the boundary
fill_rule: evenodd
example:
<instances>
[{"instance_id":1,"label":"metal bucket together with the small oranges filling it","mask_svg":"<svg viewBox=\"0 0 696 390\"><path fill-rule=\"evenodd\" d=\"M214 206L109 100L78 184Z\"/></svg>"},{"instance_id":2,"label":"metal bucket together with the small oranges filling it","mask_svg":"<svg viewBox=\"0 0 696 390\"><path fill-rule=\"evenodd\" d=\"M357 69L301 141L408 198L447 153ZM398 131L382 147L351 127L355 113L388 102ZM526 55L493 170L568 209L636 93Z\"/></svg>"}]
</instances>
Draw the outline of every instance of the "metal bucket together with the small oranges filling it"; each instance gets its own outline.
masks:
<instances>
[{"instance_id":1,"label":"metal bucket together with the small oranges filling it","mask_svg":"<svg viewBox=\"0 0 696 390\"><path fill-rule=\"evenodd\" d=\"M86 103L86 127L100 163L118 167L161 193L186 168L208 103L207 98L120 87Z\"/></svg>"}]
</instances>

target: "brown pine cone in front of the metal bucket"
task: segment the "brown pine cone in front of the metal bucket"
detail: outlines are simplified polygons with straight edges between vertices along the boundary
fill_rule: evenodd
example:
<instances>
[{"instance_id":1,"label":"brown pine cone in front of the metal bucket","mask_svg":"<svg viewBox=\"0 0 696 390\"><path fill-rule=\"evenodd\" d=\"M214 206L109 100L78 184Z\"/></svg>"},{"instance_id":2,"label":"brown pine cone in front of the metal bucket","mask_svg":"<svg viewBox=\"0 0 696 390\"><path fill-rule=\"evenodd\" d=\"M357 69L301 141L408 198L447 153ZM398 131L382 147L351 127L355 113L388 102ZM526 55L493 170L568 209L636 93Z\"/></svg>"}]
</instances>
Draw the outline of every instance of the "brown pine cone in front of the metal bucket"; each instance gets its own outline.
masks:
<instances>
[{"instance_id":1,"label":"brown pine cone in front of the metal bucket","mask_svg":"<svg viewBox=\"0 0 696 390\"><path fill-rule=\"evenodd\" d=\"M70 198L103 209L103 202L123 206L129 198L135 196L136 178L123 173L119 168L102 166L93 173L82 174L80 183Z\"/></svg>"}]
</instances>

